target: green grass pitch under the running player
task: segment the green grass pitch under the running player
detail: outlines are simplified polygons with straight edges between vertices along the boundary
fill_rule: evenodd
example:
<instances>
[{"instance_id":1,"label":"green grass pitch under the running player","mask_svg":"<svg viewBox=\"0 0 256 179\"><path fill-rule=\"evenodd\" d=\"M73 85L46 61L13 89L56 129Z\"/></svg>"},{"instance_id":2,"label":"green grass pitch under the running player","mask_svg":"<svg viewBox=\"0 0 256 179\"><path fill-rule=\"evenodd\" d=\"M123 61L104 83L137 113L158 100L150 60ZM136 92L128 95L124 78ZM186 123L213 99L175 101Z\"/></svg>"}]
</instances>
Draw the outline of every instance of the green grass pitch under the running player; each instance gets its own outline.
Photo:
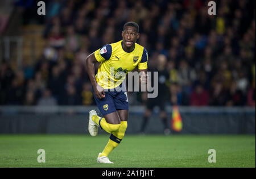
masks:
<instances>
[{"instance_id":1,"label":"green grass pitch under the running player","mask_svg":"<svg viewBox=\"0 0 256 179\"><path fill-rule=\"evenodd\" d=\"M96 163L107 135L0 135L0 167L255 167L255 135L126 135ZM46 163L38 163L38 149ZM208 150L216 150L216 163Z\"/></svg>"}]
</instances>

